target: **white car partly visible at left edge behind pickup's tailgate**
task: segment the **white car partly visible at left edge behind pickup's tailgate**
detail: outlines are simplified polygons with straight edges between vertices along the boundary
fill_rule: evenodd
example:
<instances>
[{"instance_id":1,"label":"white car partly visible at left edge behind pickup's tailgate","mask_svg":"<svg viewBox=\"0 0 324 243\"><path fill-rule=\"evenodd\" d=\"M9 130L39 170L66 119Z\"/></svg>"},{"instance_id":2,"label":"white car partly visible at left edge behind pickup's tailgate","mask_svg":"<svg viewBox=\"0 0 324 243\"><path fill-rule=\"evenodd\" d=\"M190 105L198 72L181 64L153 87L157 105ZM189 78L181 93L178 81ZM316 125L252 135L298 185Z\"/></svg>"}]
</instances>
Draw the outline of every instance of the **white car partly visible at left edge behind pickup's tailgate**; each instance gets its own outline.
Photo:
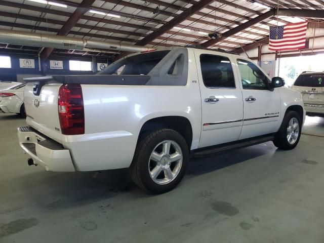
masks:
<instances>
[{"instance_id":1,"label":"white car partly visible at left edge behind pickup's tailgate","mask_svg":"<svg viewBox=\"0 0 324 243\"><path fill-rule=\"evenodd\" d=\"M17 113L26 117L24 89L26 84L19 84L7 90L0 90L0 110L5 113Z\"/></svg>"}]
</instances>

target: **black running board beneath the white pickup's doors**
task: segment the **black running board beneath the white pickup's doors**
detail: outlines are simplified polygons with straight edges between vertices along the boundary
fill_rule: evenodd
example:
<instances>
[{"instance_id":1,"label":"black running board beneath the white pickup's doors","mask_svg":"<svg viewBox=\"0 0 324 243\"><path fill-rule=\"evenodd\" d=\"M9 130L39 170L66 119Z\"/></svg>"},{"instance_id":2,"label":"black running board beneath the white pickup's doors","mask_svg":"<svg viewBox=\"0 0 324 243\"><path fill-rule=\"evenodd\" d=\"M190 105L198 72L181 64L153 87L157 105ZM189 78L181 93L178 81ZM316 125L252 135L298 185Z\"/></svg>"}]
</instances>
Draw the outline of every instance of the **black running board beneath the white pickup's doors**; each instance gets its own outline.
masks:
<instances>
[{"instance_id":1,"label":"black running board beneath the white pickup's doors","mask_svg":"<svg viewBox=\"0 0 324 243\"><path fill-rule=\"evenodd\" d=\"M191 152L192 157L205 157L208 155L225 152L232 149L249 147L252 145L273 141L274 135L267 135L262 137L255 137L250 139L238 140L235 142L224 143L212 147L196 149Z\"/></svg>"}]
</instances>

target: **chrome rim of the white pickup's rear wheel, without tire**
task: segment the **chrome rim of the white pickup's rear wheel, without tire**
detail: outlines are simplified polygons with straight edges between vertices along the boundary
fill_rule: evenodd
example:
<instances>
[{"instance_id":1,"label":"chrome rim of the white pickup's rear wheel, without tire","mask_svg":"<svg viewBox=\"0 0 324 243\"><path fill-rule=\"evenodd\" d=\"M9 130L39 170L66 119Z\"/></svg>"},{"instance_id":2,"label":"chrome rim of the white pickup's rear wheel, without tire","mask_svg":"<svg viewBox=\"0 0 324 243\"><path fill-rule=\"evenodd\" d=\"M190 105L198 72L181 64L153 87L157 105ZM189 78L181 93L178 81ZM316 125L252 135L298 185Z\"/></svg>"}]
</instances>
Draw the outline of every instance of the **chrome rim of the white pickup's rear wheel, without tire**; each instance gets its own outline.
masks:
<instances>
[{"instance_id":1,"label":"chrome rim of the white pickup's rear wheel, without tire","mask_svg":"<svg viewBox=\"0 0 324 243\"><path fill-rule=\"evenodd\" d=\"M148 161L148 172L152 180L160 185L173 181L182 166L183 154L178 143L172 140L160 142L152 151Z\"/></svg>"}]
</instances>

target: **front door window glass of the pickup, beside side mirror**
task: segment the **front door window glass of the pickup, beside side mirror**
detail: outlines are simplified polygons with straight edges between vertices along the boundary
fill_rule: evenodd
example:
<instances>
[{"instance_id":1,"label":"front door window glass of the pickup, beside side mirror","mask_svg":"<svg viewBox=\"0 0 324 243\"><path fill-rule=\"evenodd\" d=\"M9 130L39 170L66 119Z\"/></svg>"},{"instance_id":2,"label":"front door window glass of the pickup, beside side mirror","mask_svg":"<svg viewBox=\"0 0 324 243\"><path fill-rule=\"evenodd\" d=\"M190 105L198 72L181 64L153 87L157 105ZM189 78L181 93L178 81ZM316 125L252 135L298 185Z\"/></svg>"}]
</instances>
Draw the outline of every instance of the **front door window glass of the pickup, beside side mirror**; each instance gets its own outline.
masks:
<instances>
[{"instance_id":1,"label":"front door window glass of the pickup, beside side mirror","mask_svg":"<svg viewBox=\"0 0 324 243\"><path fill-rule=\"evenodd\" d=\"M269 79L254 63L238 59L237 64L243 89L268 89Z\"/></svg>"}]
</instances>

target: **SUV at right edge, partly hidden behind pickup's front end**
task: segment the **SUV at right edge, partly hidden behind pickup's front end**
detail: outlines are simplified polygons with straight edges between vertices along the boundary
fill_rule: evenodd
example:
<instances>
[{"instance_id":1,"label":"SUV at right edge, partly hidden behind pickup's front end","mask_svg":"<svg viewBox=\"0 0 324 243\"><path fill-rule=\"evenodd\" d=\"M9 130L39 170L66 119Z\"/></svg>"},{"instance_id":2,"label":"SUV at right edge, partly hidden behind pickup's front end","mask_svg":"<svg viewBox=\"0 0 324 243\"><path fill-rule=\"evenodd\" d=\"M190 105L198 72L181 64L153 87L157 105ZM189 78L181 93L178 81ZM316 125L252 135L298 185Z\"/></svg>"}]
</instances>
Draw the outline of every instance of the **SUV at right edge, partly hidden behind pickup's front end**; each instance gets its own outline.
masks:
<instances>
[{"instance_id":1,"label":"SUV at right edge, partly hidden behind pickup's front end","mask_svg":"<svg viewBox=\"0 0 324 243\"><path fill-rule=\"evenodd\" d=\"M292 89L302 93L307 115L324 116L324 72L303 72Z\"/></svg>"}]
</instances>

